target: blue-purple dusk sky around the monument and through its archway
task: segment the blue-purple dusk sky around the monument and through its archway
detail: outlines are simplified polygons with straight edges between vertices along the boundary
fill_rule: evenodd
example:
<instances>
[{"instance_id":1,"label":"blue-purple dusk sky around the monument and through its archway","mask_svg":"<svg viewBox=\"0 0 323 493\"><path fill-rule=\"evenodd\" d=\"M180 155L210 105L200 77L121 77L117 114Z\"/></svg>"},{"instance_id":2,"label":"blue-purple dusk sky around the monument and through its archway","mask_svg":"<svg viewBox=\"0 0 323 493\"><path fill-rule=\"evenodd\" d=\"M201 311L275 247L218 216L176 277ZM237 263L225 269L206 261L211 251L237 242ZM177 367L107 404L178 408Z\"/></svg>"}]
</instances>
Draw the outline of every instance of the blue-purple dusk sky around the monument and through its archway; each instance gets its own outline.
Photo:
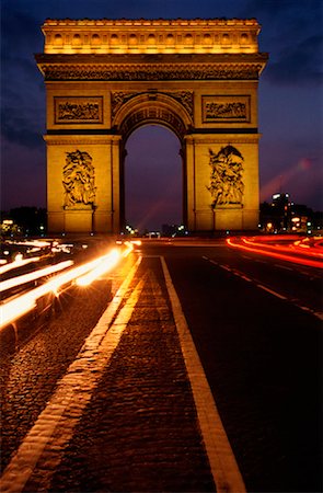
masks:
<instances>
[{"instance_id":1,"label":"blue-purple dusk sky around the monument and through its archway","mask_svg":"<svg viewBox=\"0 0 323 493\"><path fill-rule=\"evenodd\" d=\"M256 18L269 61L259 82L261 202L288 192L322 210L321 0L1 0L1 209L46 206L45 19ZM180 142L146 126L128 139L126 211L132 226L181 222Z\"/></svg>"}]
</instances>

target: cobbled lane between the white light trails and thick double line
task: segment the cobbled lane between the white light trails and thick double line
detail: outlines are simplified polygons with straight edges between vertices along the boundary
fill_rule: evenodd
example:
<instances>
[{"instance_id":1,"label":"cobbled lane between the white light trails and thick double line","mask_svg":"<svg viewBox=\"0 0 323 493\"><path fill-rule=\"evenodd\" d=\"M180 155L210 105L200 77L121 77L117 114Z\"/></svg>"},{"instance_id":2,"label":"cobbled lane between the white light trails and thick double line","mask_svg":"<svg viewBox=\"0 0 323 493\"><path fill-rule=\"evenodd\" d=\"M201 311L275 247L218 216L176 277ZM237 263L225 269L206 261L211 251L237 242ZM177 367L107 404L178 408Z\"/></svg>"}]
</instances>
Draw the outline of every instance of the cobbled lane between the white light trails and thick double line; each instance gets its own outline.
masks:
<instances>
[{"instance_id":1,"label":"cobbled lane between the white light trails and thick double line","mask_svg":"<svg viewBox=\"0 0 323 493\"><path fill-rule=\"evenodd\" d=\"M127 259L93 285L67 290L41 318L32 312L15 330L9 325L0 332L1 468L46 406L132 263Z\"/></svg>"}]
</instances>

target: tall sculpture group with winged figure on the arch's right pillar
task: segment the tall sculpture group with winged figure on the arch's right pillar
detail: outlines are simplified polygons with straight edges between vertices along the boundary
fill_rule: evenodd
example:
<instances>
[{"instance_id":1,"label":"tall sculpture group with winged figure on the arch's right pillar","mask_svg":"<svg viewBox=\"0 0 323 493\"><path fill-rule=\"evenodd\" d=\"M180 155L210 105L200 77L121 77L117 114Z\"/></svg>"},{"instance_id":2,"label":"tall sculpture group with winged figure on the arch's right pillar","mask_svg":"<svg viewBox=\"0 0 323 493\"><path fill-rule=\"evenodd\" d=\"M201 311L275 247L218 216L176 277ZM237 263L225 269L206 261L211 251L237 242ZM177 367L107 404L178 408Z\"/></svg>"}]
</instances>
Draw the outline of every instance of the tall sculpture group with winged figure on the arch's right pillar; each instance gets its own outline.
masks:
<instances>
[{"instance_id":1,"label":"tall sculpture group with winged figure on the arch's right pillar","mask_svg":"<svg viewBox=\"0 0 323 493\"><path fill-rule=\"evenodd\" d=\"M210 186L212 196L211 208L230 204L242 205L244 184L242 181L244 159L233 146L222 147L216 154L210 153Z\"/></svg>"}]
</instances>

